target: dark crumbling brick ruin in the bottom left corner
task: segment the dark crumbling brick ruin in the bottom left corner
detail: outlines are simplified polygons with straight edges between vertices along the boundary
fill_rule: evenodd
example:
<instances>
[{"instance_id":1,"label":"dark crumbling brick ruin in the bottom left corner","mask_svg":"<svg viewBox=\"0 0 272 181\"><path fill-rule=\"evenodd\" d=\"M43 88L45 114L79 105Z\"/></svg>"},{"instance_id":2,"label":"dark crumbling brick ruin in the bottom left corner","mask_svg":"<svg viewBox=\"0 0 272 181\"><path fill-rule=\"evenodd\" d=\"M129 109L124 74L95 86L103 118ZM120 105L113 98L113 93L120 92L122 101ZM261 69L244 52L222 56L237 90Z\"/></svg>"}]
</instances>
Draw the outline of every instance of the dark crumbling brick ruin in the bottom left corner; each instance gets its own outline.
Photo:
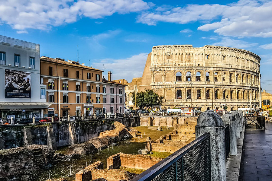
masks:
<instances>
[{"instance_id":1,"label":"dark crumbling brick ruin in the bottom left corner","mask_svg":"<svg viewBox=\"0 0 272 181\"><path fill-rule=\"evenodd\" d=\"M33 180L35 172L53 163L53 155L54 150L37 144L0 150L0 180Z\"/></svg>"}]
</instances>

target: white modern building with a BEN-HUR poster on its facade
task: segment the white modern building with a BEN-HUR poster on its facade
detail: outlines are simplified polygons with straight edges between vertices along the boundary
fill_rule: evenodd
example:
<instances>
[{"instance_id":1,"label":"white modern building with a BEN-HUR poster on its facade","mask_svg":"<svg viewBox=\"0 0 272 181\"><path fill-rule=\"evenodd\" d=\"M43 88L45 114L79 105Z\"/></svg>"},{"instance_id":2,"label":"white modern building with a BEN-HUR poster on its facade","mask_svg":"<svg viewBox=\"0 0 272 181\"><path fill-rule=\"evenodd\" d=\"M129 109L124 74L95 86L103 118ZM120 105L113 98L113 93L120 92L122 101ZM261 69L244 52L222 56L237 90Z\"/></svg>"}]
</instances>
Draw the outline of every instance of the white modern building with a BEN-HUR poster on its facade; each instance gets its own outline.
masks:
<instances>
[{"instance_id":1,"label":"white modern building with a BEN-HUR poster on its facade","mask_svg":"<svg viewBox=\"0 0 272 181\"><path fill-rule=\"evenodd\" d=\"M40 118L51 103L40 84L40 45L0 36L0 117Z\"/></svg>"}]
</instances>

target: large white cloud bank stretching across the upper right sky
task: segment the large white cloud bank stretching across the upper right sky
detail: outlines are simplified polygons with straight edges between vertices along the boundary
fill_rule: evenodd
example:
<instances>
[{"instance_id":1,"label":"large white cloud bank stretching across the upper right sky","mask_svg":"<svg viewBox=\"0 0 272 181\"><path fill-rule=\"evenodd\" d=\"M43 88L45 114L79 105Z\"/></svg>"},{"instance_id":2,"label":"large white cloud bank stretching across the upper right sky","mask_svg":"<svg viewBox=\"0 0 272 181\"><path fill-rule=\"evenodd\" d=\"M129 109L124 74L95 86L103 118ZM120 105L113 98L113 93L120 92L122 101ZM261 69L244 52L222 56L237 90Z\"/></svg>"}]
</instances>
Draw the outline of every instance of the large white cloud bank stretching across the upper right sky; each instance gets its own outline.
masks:
<instances>
[{"instance_id":1,"label":"large white cloud bank stretching across the upper right sky","mask_svg":"<svg viewBox=\"0 0 272 181\"><path fill-rule=\"evenodd\" d=\"M187 5L167 11L144 12L140 23L158 22L187 24L202 21L198 30L214 30L223 36L272 37L272 1L240 0L228 5Z\"/></svg>"}]
</instances>

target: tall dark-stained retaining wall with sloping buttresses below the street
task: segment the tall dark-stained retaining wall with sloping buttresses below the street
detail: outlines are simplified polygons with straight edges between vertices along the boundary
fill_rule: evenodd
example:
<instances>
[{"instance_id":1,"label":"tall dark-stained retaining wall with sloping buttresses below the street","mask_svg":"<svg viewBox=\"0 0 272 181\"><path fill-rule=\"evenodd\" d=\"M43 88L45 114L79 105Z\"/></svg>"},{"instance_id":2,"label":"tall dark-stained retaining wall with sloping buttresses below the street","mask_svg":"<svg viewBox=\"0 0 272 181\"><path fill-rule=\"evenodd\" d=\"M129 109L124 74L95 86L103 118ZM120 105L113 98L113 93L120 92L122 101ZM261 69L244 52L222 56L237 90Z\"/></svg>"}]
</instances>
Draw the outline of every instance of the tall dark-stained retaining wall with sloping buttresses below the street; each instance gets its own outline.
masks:
<instances>
[{"instance_id":1,"label":"tall dark-stained retaining wall with sloping buttresses below the street","mask_svg":"<svg viewBox=\"0 0 272 181\"><path fill-rule=\"evenodd\" d=\"M50 148L83 143L109 130L112 122L118 121L125 126L139 126L139 117L99 119L92 121L48 122L28 125L0 126L0 150L28 146L31 144L48 145Z\"/></svg>"}]
</instances>

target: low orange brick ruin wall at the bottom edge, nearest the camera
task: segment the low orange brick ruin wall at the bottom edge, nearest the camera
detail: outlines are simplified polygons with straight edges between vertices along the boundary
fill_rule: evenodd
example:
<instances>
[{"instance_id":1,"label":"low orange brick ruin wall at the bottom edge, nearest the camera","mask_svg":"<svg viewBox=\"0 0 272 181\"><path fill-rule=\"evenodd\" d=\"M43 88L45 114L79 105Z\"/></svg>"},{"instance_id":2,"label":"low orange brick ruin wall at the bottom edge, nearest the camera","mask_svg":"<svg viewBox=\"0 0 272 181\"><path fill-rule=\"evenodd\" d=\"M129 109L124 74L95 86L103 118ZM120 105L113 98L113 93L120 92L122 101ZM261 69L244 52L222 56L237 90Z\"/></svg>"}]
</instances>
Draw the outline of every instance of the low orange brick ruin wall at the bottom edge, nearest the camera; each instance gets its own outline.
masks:
<instances>
[{"instance_id":1,"label":"low orange brick ruin wall at the bottom edge, nearest the camera","mask_svg":"<svg viewBox=\"0 0 272 181\"><path fill-rule=\"evenodd\" d=\"M137 174L119 169L103 170L103 163L97 161L76 173L76 181L89 181L101 178L107 181L131 180L135 176Z\"/></svg>"}]
</instances>

